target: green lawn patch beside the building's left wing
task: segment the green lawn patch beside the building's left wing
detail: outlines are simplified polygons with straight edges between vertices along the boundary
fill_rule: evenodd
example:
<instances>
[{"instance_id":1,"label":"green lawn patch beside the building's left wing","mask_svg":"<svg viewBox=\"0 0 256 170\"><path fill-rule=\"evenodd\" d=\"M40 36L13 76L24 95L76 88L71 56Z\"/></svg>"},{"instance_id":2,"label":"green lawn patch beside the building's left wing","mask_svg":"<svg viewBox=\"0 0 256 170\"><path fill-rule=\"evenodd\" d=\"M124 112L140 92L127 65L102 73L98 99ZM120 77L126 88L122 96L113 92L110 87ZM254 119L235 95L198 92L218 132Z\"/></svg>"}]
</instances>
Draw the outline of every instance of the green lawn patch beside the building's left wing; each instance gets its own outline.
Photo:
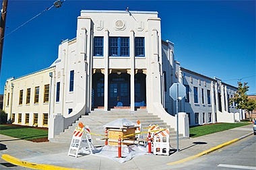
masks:
<instances>
[{"instance_id":1,"label":"green lawn patch beside the building's left wing","mask_svg":"<svg viewBox=\"0 0 256 170\"><path fill-rule=\"evenodd\" d=\"M34 140L46 138L48 136L48 130L28 126L15 126L13 124L0 124L0 134L24 140Z\"/></svg>"}]
</instances>

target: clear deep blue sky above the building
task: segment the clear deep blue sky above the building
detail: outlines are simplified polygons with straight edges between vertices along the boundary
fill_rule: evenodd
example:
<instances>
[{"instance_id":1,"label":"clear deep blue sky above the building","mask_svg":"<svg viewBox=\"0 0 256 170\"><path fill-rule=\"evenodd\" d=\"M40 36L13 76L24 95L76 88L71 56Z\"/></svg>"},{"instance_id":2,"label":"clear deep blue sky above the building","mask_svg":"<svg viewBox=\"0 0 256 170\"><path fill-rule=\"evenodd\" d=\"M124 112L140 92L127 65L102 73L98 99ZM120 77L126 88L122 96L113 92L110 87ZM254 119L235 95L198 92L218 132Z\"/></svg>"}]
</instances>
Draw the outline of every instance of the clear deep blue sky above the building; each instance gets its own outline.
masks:
<instances>
[{"instance_id":1,"label":"clear deep blue sky above the building","mask_svg":"<svg viewBox=\"0 0 256 170\"><path fill-rule=\"evenodd\" d=\"M247 94L256 95L255 1L66 0L62 7L44 11L54 2L9 0L0 93L7 78L51 65L61 40L75 38L82 9L125 11L129 7L130 11L158 11L162 40L174 42L175 59L181 67L235 87L239 80L247 82Z\"/></svg>"}]
</instances>

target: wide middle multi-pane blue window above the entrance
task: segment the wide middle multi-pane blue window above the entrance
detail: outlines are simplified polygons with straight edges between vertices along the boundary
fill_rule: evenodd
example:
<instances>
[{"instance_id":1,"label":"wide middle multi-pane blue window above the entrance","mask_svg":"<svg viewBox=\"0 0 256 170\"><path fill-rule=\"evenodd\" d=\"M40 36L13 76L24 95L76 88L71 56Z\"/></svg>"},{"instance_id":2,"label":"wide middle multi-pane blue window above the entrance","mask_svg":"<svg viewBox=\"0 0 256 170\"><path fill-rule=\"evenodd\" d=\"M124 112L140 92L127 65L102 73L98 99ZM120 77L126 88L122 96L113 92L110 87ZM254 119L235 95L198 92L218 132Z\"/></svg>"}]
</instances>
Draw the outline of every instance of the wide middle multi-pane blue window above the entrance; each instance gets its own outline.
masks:
<instances>
[{"instance_id":1,"label":"wide middle multi-pane blue window above the entrance","mask_svg":"<svg viewBox=\"0 0 256 170\"><path fill-rule=\"evenodd\" d=\"M109 56L129 56L129 37L110 37Z\"/></svg>"}]
</instances>

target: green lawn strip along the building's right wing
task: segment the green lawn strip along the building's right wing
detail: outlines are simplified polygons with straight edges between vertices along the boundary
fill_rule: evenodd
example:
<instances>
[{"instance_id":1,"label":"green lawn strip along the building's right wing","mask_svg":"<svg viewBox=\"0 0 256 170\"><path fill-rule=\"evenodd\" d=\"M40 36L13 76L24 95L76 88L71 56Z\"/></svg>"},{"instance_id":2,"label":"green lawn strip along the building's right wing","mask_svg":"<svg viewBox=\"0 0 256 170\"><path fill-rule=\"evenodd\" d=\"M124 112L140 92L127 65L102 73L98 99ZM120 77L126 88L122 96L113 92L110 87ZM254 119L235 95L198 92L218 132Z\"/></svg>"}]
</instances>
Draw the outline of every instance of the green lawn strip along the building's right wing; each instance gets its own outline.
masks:
<instances>
[{"instance_id":1,"label":"green lawn strip along the building's right wing","mask_svg":"<svg viewBox=\"0 0 256 170\"><path fill-rule=\"evenodd\" d=\"M195 138L198 136L203 136L205 134L212 134L215 132L220 132L228 130L231 128L236 128L240 126L245 126L251 124L251 122L238 122L238 123L218 123L218 124L207 124L203 126L195 126L189 128L190 137Z\"/></svg>"}]
</instances>

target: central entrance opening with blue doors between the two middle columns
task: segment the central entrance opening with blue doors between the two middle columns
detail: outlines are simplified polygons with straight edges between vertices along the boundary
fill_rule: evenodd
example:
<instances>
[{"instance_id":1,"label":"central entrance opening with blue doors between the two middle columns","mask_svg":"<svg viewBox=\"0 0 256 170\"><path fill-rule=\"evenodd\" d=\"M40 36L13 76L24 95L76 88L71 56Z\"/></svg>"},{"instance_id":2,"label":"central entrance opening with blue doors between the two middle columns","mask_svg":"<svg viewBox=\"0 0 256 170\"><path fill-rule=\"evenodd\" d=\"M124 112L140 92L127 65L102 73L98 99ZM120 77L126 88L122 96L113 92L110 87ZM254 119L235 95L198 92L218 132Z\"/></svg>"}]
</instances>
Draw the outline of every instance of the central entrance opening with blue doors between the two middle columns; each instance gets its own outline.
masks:
<instances>
[{"instance_id":1,"label":"central entrance opening with blue doors between the two middle columns","mask_svg":"<svg viewBox=\"0 0 256 170\"><path fill-rule=\"evenodd\" d=\"M108 108L130 106L130 75L112 73L108 82Z\"/></svg>"}]
</instances>

